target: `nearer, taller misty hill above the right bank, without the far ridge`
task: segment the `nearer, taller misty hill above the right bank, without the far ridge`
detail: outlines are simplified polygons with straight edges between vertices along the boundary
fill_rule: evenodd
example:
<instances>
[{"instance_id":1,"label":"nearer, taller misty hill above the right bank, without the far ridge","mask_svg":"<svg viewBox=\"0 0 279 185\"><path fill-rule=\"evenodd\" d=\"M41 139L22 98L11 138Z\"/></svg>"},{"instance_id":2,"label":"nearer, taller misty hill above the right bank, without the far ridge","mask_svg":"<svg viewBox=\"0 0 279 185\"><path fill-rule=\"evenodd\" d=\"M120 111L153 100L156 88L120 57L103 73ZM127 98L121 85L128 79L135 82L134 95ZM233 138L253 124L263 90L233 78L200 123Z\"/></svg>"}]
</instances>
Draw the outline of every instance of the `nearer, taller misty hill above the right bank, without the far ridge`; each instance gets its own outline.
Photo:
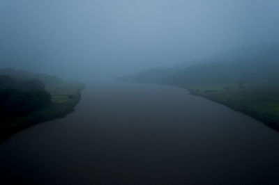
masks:
<instances>
[{"instance_id":1,"label":"nearer, taller misty hill above the right bank, without the far ridge","mask_svg":"<svg viewBox=\"0 0 279 185\"><path fill-rule=\"evenodd\" d=\"M215 60L213 60L215 58ZM206 59L204 59L206 61ZM243 47L171 74L163 83L276 83L279 80L279 45Z\"/></svg>"}]
</instances>

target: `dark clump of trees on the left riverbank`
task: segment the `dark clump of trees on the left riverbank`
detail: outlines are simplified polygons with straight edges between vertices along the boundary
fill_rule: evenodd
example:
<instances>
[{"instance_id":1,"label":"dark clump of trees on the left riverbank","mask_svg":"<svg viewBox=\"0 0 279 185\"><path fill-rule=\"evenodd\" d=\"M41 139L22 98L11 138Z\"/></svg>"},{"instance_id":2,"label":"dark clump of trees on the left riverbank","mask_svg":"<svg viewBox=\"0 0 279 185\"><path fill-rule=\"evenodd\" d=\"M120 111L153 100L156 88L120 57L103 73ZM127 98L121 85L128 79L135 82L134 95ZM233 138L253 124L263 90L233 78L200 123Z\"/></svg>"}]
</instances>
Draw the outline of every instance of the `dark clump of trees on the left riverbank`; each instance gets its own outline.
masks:
<instances>
[{"instance_id":1,"label":"dark clump of trees on the left riverbank","mask_svg":"<svg viewBox=\"0 0 279 185\"><path fill-rule=\"evenodd\" d=\"M2 118L27 115L51 104L51 95L43 82L20 81L0 76L0 114Z\"/></svg>"}]
</instances>

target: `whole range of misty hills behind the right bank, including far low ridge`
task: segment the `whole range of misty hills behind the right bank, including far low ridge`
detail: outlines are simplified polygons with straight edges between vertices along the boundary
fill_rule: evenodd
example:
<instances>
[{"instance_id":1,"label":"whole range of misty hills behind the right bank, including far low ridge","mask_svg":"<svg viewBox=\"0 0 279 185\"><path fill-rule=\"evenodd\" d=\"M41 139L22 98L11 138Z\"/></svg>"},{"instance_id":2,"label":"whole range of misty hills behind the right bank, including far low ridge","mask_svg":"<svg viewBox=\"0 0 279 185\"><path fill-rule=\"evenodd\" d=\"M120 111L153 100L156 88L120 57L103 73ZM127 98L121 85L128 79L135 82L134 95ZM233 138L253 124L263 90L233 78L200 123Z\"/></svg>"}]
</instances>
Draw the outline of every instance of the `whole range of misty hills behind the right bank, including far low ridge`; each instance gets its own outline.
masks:
<instances>
[{"instance_id":1,"label":"whole range of misty hills behind the right bank, including far low ridge","mask_svg":"<svg viewBox=\"0 0 279 185\"><path fill-rule=\"evenodd\" d=\"M277 81L279 43L240 47L195 61L197 65L153 69L126 77L140 83L237 83Z\"/></svg>"}]
</instances>

